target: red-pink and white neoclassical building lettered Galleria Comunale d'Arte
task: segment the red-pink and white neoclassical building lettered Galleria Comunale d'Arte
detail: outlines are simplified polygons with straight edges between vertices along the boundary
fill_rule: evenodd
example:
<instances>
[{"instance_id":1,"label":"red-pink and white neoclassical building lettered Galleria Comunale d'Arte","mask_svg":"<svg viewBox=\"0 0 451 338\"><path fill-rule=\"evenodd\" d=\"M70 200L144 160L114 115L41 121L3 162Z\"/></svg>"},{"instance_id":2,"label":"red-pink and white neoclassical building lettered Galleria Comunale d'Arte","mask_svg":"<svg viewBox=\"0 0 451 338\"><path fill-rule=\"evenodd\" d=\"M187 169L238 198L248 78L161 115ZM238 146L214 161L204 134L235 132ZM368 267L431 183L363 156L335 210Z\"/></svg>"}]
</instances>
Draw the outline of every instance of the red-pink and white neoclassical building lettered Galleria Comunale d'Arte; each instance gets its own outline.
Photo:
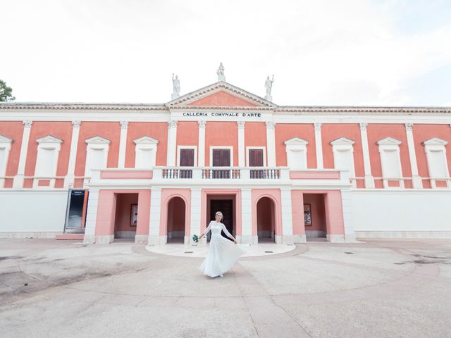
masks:
<instances>
[{"instance_id":1,"label":"red-pink and white neoclassical building lettered Galleria Comunale d'Arte","mask_svg":"<svg viewBox=\"0 0 451 338\"><path fill-rule=\"evenodd\" d=\"M242 243L451 237L450 123L225 77L167 104L2 103L0 237L190 243L218 210Z\"/></svg>"}]
</instances>

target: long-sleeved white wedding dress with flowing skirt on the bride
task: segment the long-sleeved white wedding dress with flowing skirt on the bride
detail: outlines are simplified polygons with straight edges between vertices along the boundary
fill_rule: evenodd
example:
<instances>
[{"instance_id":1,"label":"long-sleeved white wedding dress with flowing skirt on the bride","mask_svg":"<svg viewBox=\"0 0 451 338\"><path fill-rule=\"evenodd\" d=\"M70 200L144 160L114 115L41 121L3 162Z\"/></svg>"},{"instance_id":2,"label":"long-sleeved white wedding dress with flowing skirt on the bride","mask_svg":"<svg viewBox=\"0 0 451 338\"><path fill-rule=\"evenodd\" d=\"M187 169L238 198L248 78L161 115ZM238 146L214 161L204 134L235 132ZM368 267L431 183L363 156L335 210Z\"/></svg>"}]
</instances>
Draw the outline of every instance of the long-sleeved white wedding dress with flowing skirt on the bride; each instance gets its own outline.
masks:
<instances>
[{"instance_id":1,"label":"long-sleeved white wedding dress with flowing skirt on the bride","mask_svg":"<svg viewBox=\"0 0 451 338\"><path fill-rule=\"evenodd\" d=\"M230 238L233 236L228 232L223 223L218 223L212 220L208 227L206 227L204 234L211 230L211 239L209 251L199 270L209 277L216 277L222 275L227 270L232 268L233 264L240 258L240 256L247 252L249 246L240 245L230 242L221 235L221 230Z\"/></svg>"}]
</instances>

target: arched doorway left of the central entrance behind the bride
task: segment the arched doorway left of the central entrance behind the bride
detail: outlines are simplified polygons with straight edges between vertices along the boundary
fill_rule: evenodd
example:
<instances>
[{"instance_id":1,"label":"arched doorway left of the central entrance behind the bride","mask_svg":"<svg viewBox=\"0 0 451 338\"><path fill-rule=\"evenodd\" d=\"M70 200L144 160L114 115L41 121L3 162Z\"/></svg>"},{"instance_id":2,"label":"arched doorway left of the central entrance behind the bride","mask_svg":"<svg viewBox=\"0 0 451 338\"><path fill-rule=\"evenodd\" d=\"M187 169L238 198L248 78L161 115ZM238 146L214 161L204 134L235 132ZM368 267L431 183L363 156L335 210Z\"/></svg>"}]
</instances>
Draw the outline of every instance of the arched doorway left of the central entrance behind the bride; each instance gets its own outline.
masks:
<instances>
[{"instance_id":1,"label":"arched doorway left of the central entrance behind the bride","mask_svg":"<svg viewBox=\"0 0 451 338\"><path fill-rule=\"evenodd\" d=\"M185 239L185 201L180 197L173 197L168 202L168 243L183 243Z\"/></svg>"}]
</instances>

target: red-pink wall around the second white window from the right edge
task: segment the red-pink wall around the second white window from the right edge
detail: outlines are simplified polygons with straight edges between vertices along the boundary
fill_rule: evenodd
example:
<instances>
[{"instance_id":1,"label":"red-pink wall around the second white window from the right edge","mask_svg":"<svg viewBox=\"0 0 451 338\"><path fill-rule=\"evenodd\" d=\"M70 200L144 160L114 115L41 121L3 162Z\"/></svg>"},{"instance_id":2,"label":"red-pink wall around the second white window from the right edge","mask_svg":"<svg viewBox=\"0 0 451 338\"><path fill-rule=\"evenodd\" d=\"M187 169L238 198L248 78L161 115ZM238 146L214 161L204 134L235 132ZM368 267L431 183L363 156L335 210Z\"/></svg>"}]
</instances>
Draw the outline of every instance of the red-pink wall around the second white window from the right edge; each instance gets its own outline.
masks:
<instances>
[{"instance_id":1,"label":"red-pink wall around the second white window from the right edge","mask_svg":"<svg viewBox=\"0 0 451 338\"><path fill-rule=\"evenodd\" d=\"M403 177L412 177L410 169L409 147L407 146L407 134L402 124L369 124L368 129L369 155L371 159L371 174L373 177L382 177L381 157L376 142L385 137L393 137L400 140L400 157ZM404 180L406 188L412 187L410 180ZM383 188L382 180L375 180L376 188Z\"/></svg>"}]
</instances>

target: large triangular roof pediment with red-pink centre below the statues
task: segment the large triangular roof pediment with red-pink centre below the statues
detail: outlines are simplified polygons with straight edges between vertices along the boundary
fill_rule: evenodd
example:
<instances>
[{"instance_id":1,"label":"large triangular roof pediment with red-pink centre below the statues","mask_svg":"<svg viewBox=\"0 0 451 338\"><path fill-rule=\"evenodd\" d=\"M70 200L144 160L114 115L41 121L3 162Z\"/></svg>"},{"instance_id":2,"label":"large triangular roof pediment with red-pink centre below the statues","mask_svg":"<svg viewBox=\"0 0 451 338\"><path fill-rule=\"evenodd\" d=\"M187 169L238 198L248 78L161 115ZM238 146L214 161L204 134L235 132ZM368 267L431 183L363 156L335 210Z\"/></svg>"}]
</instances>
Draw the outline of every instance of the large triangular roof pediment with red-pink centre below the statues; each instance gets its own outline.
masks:
<instances>
[{"instance_id":1,"label":"large triangular roof pediment with red-pink centre below the statues","mask_svg":"<svg viewBox=\"0 0 451 338\"><path fill-rule=\"evenodd\" d=\"M214 107L277 107L260 96L246 92L227 82L216 82L195 92L185 94L166 104L168 107L214 106Z\"/></svg>"}]
</instances>

